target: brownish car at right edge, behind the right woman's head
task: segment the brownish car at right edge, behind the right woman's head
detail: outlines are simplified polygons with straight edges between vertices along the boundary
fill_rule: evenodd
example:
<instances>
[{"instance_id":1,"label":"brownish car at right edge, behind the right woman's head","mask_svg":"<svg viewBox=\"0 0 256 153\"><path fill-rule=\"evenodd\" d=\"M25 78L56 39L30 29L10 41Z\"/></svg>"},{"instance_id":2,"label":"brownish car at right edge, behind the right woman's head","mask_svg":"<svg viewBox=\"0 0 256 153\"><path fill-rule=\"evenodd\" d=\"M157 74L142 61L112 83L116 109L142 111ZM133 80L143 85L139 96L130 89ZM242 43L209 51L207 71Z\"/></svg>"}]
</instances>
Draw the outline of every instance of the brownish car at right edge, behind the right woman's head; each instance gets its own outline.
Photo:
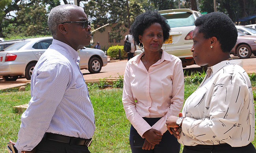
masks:
<instances>
[{"instance_id":1,"label":"brownish car at right edge, behind the right woman's head","mask_svg":"<svg viewBox=\"0 0 256 153\"><path fill-rule=\"evenodd\" d=\"M238 32L236 45L230 54L237 55L239 58L249 58L253 53L256 55L256 36L245 35L241 31Z\"/></svg>"}]
</instances>

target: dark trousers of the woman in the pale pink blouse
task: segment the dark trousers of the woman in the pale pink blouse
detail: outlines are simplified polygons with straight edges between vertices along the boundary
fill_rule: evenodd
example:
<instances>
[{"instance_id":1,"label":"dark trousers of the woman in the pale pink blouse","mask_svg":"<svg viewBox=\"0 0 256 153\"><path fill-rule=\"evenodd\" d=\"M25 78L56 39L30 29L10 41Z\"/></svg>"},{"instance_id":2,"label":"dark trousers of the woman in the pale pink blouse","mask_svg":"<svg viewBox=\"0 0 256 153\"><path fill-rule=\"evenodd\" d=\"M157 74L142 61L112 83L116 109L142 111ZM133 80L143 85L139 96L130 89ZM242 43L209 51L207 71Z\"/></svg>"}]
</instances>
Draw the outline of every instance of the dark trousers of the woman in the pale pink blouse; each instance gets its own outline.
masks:
<instances>
[{"instance_id":1,"label":"dark trousers of the woman in the pale pink blouse","mask_svg":"<svg viewBox=\"0 0 256 153\"><path fill-rule=\"evenodd\" d=\"M143 119L150 125L153 126L160 118L146 118ZM132 149L132 153L180 153L180 143L177 139L170 134L167 130L161 139L161 142L155 145L155 148L152 150L143 150L141 147L134 146L134 138L140 138L141 141L144 143L145 139L142 139L136 129L131 126L130 128L130 146ZM142 143L142 144L143 144ZM136 145L136 144L135 144Z\"/></svg>"}]
</instances>

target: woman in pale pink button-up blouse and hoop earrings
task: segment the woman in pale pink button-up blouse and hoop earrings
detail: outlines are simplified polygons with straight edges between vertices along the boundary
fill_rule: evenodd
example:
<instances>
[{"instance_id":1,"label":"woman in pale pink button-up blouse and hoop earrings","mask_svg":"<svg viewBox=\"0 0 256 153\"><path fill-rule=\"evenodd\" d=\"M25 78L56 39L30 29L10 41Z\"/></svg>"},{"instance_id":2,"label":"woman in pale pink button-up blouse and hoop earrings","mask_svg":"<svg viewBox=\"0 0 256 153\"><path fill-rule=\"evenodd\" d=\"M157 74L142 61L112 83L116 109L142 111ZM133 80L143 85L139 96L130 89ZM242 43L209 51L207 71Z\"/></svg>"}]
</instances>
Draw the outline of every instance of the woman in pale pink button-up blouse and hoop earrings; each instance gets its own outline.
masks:
<instances>
[{"instance_id":1,"label":"woman in pale pink button-up blouse and hoop earrings","mask_svg":"<svg viewBox=\"0 0 256 153\"><path fill-rule=\"evenodd\" d=\"M136 17L130 30L135 43L144 48L128 61L124 73L122 102L132 124L132 153L179 153L180 144L165 126L167 117L178 115L184 100L182 63L161 49L170 27L157 11L147 11Z\"/></svg>"}]
</instances>

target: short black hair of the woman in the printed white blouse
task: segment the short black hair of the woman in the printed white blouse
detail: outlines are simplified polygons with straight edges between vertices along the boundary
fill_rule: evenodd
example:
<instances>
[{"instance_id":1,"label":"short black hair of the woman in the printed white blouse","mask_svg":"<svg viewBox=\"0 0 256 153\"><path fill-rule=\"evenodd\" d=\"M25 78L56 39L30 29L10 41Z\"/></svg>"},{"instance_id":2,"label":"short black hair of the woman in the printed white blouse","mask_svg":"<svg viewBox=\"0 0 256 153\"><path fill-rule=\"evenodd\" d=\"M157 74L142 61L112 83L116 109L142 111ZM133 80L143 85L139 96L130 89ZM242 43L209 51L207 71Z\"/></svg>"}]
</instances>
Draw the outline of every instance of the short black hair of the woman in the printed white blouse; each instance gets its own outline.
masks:
<instances>
[{"instance_id":1,"label":"short black hair of the woman in the printed white blouse","mask_svg":"<svg viewBox=\"0 0 256 153\"><path fill-rule=\"evenodd\" d=\"M212 12L200 16L195 20L195 26L199 27L198 32L202 32L204 38L215 36L221 44L223 52L230 52L236 44L236 26L224 13Z\"/></svg>"}]
</instances>

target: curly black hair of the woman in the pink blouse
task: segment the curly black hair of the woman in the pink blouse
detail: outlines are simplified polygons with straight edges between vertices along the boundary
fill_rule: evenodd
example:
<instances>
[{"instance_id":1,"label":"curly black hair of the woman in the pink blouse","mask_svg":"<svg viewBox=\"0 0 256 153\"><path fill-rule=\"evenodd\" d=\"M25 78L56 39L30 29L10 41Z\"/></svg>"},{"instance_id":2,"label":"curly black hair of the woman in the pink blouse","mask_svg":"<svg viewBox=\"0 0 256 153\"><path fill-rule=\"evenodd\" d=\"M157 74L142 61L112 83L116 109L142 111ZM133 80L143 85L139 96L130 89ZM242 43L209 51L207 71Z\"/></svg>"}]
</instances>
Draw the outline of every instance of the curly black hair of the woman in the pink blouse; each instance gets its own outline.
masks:
<instances>
[{"instance_id":1,"label":"curly black hair of the woman in the pink blouse","mask_svg":"<svg viewBox=\"0 0 256 153\"><path fill-rule=\"evenodd\" d=\"M146 11L139 14L130 28L130 34L132 34L134 41L139 45L139 35L143 35L145 29L147 29L153 23L159 23L163 29L163 41L169 38L170 26L167 23L166 18L160 15L158 11Z\"/></svg>"}]
</instances>

